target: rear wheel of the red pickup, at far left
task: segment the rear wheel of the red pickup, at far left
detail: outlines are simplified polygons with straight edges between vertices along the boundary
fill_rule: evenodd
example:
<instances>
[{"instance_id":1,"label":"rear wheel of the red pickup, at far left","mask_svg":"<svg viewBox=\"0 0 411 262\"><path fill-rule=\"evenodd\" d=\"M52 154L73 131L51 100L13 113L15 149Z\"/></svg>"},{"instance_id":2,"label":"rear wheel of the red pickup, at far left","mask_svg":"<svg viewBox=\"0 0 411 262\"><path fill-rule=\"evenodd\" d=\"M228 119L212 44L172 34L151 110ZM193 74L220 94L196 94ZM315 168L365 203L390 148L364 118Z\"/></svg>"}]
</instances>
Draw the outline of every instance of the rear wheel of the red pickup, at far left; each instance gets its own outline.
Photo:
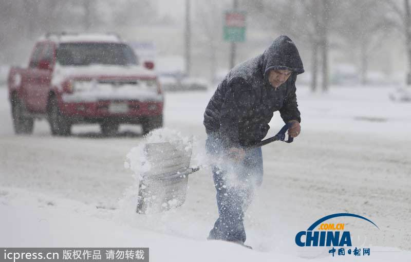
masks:
<instances>
[{"instance_id":1,"label":"rear wheel of the red pickup, at far left","mask_svg":"<svg viewBox=\"0 0 411 262\"><path fill-rule=\"evenodd\" d=\"M15 97L11 102L11 114L15 134L32 134L34 119L25 116L26 107L19 98Z\"/></svg>"}]
</instances>

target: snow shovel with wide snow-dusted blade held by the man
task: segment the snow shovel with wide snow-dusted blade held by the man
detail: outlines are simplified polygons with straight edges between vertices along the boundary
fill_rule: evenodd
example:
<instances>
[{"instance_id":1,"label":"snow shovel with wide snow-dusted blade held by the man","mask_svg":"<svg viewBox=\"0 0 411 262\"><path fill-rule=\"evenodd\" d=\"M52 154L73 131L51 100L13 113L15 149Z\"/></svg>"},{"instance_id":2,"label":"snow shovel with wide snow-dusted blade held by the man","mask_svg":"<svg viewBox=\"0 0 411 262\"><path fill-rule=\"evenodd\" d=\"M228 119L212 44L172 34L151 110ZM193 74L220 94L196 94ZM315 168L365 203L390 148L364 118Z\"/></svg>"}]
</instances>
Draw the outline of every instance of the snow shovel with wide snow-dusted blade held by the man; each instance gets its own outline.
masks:
<instances>
[{"instance_id":1,"label":"snow shovel with wide snow-dusted blade held by the man","mask_svg":"<svg viewBox=\"0 0 411 262\"><path fill-rule=\"evenodd\" d=\"M288 123L275 136L247 149L261 147L274 141L291 143L292 137L285 140L286 132L292 124ZM149 171L143 173L139 184L137 210L139 214L159 213L177 208L185 201L189 175L199 167L189 167L191 160L191 141L174 143L148 143L144 147L145 157L150 164Z\"/></svg>"}]
</instances>

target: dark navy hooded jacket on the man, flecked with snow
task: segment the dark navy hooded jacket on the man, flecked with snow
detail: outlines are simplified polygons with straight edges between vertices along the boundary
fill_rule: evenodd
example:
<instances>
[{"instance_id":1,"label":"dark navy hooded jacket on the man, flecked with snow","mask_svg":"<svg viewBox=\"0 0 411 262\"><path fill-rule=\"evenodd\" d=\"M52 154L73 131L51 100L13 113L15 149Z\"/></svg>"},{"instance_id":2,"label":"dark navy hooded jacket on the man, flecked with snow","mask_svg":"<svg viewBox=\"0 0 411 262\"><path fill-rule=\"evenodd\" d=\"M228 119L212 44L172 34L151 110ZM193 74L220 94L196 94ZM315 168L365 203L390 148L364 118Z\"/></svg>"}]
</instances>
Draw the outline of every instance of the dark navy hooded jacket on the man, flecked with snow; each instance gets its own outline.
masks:
<instances>
[{"instance_id":1,"label":"dark navy hooded jacket on the man, flecked with snow","mask_svg":"<svg viewBox=\"0 0 411 262\"><path fill-rule=\"evenodd\" d=\"M272 69L292 74L274 88L268 81ZM267 135L277 110L285 123L301 122L295 80L303 72L296 46L288 36L279 36L263 54L234 67L218 85L204 113L207 134L217 134L225 147L247 146Z\"/></svg>"}]
</instances>

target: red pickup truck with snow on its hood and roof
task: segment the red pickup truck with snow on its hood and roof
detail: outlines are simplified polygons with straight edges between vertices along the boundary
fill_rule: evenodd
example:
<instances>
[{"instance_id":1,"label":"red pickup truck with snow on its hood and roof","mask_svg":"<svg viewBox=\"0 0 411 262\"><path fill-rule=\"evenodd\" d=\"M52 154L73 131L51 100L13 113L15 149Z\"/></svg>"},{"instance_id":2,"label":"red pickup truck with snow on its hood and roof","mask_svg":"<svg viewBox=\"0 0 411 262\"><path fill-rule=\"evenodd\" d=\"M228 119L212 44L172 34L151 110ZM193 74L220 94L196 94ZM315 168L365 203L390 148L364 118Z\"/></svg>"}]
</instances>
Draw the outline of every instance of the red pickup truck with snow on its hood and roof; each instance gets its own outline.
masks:
<instances>
[{"instance_id":1,"label":"red pickup truck with snow on its hood and roof","mask_svg":"<svg viewBox=\"0 0 411 262\"><path fill-rule=\"evenodd\" d=\"M159 128L164 97L152 66L139 65L116 35L46 34L28 68L9 72L15 133L31 134L41 118L58 136L81 123L98 123L106 135L122 123L141 124L144 134Z\"/></svg>"}]
</instances>

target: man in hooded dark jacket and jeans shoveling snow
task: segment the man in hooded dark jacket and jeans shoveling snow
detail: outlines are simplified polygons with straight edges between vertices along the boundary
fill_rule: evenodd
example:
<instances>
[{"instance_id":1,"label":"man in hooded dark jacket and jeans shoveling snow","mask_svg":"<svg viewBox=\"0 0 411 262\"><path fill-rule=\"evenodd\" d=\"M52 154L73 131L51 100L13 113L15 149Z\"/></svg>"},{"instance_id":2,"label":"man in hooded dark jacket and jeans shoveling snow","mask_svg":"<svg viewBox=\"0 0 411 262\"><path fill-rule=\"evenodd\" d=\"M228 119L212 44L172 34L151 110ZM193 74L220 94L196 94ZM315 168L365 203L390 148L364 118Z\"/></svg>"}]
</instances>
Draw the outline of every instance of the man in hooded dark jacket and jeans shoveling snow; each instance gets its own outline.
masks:
<instances>
[{"instance_id":1,"label":"man in hooded dark jacket and jeans shoveling snow","mask_svg":"<svg viewBox=\"0 0 411 262\"><path fill-rule=\"evenodd\" d=\"M243 218L255 186L263 181L260 142L270 128L274 111L290 123L290 137L300 134L295 80L303 73L298 50L288 36L279 36L261 55L234 67L218 85L204 113L206 149L212 166L219 217L208 239L244 245Z\"/></svg>"}]
</instances>

